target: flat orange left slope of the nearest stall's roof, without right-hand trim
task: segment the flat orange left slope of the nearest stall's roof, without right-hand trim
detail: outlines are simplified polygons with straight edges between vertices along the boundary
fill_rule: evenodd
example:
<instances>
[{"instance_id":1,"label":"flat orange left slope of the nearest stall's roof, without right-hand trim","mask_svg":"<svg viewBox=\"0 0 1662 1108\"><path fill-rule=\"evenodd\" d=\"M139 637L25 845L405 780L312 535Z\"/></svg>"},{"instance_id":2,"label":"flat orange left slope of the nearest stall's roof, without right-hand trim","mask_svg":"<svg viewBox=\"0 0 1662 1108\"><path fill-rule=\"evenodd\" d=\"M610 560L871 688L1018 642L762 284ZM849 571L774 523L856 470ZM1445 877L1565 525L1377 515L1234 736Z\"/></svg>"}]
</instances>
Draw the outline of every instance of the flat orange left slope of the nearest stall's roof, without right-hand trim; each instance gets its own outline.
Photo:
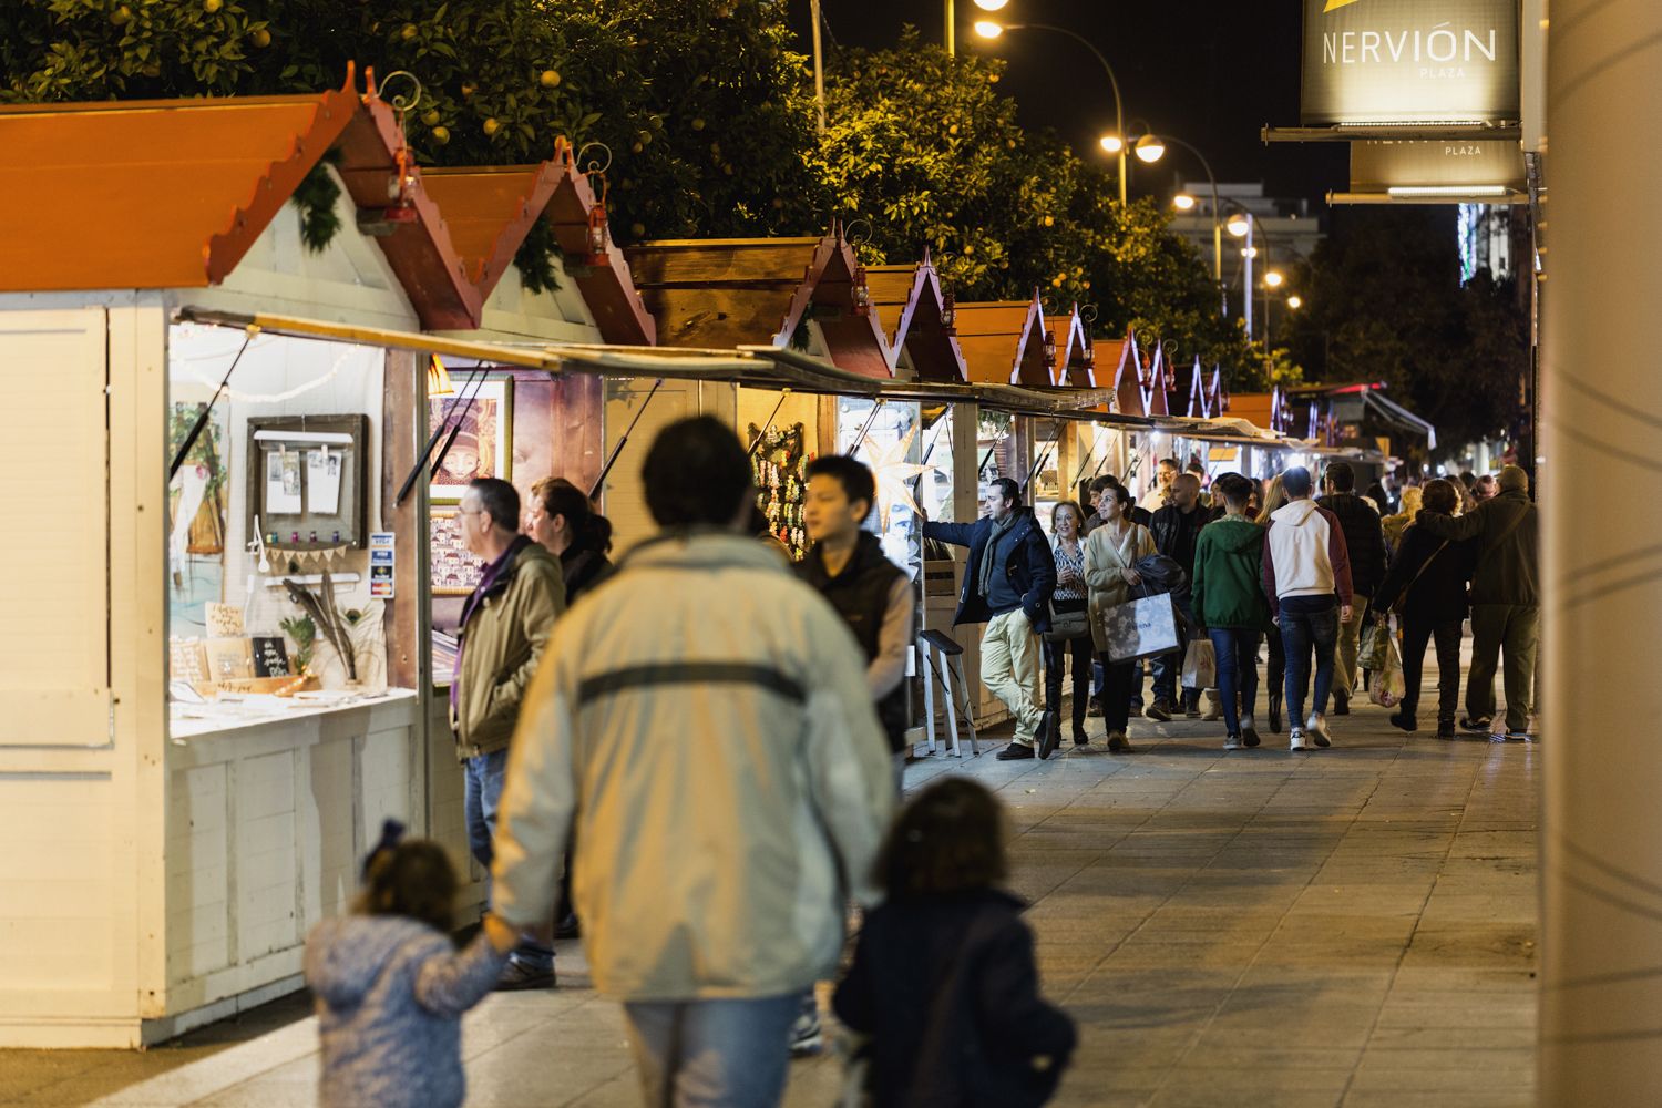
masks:
<instances>
[{"instance_id":1,"label":"flat orange left slope of the nearest stall's roof, without right-hand trim","mask_svg":"<svg viewBox=\"0 0 1662 1108\"><path fill-rule=\"evenodd\" d=\"M0 106L0 291L219 284L357 115L352 85Z\"/></svg>"}]
</instances>

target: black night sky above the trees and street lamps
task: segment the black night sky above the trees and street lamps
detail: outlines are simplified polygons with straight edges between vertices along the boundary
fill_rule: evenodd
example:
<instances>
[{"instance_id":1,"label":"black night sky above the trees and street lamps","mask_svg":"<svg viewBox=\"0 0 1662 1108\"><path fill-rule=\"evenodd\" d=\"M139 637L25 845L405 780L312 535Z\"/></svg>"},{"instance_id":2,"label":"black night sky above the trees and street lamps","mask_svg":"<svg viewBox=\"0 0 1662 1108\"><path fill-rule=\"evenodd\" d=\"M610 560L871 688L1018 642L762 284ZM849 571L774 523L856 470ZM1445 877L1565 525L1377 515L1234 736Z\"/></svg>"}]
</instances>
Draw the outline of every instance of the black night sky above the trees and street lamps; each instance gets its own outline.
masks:
<instances>
[{"instance_id":1,"label":"black night sky above the trees and street lamps","mask_svg":"<svg viewBox=\"0 0 1662 1108\"><path fill-rule=\"evenodd\" d=\"M997 18L1055 23L1084 35L1119 76L1128 130L1132 120L1147 120L1155 131L1205 151L1218 181L1261 179L1271 196L1305 196L1313 213L1321 213L1323 194L1348 184L1346 148L1265 146L1260 140L1266 123L1298 125L1300 7L1296 0L1009 0ZM944 40L944 0L823 0L823 8L831 35L843 45L891 45L902 23L919 27L927 42ZM791 15L808 53L806 0L793 0ZM1020 105L1025 126L1052 126L1075 151L1105 156L1095 140L1114 126L1114 95L1095 58L1070 38L1040 30L989 43L971 30L982 17L974 0L957 0L959 53L1006 58L1009 68L999 90ZM1135 164L1133 194L1167 194L1177 176L1205 176L1193 156L1177 148L1157 166Z\"/></svg>"}]
</instances>

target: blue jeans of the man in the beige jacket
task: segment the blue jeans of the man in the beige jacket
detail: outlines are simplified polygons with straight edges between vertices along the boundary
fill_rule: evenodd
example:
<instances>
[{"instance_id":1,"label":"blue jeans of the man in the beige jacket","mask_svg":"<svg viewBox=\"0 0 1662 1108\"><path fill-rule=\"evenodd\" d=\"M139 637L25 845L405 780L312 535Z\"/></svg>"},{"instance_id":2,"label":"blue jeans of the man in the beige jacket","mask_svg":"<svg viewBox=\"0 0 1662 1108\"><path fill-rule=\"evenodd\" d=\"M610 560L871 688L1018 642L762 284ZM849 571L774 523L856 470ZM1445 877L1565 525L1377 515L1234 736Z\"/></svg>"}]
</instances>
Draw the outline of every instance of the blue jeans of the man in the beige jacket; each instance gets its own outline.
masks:
<instances>
[{"instance_id":1,"label":"blue jeans of the man in the beige jacket","mask_svg":"<svg viewBox=\"0 0 1662 1108\"><path fill-rule=\"evenodd\" d=\"M623 1005L648 1108L774 1108L801 993Z\"/></svg>"}]
</instances>

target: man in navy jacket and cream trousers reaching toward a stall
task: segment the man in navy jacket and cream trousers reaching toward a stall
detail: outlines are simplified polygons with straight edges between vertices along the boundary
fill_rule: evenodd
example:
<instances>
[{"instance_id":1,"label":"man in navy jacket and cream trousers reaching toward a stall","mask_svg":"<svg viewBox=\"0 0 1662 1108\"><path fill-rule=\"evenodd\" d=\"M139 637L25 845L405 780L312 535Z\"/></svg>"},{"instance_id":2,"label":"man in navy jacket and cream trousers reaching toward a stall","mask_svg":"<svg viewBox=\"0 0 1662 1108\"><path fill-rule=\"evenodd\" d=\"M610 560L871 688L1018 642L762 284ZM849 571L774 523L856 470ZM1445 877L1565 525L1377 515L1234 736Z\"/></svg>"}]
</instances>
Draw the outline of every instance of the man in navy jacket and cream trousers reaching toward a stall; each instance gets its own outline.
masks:
<instances>
[{"instance_id":1,"label":"man in navy jacket and cream trousers reaching toward a stall","mask_svg":"<svg viewBox=\"0 0 1662 1108\"><path fill-rule=\"evenodd\" d=\"M952 625L986 623L981 636L981 683L1015 716L1015 738L999 761L1050 757L1060 733L1055 713L1039 706L1039 635L1050 626L1055 555L1020 485L1001 477L987 488L987 515L974 523L931 523L924 538L969 547L964 590Z\"/></svg>"}]
</instances>

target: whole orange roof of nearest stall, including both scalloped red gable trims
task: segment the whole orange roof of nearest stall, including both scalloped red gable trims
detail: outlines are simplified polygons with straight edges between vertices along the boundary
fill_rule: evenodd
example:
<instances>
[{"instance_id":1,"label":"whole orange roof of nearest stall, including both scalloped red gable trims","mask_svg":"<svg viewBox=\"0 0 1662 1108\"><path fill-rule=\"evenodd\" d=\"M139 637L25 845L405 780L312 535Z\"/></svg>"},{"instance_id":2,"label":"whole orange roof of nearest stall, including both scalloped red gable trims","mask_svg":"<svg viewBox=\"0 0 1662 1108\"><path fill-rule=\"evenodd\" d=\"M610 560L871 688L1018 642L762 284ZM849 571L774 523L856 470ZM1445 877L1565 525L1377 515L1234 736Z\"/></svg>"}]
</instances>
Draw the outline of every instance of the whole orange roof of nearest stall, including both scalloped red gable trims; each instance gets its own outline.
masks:
<instances>
[{"instance_id":1,"label":"whole orange roof of nearest stall, including both scalloped red gable trims","mask_svg":"<svg viewBox=\"0 0 1662 1108\"><path fill-rule=\"evenodd\" d=\"M0 106L0 291L35 292L219 284L331 150L361 214L387 209L402 135L349 65L307 96ZM477 327L484 297L412 176L412 218L376 241L424 327Z\"/></svg>"}]
</instances>

